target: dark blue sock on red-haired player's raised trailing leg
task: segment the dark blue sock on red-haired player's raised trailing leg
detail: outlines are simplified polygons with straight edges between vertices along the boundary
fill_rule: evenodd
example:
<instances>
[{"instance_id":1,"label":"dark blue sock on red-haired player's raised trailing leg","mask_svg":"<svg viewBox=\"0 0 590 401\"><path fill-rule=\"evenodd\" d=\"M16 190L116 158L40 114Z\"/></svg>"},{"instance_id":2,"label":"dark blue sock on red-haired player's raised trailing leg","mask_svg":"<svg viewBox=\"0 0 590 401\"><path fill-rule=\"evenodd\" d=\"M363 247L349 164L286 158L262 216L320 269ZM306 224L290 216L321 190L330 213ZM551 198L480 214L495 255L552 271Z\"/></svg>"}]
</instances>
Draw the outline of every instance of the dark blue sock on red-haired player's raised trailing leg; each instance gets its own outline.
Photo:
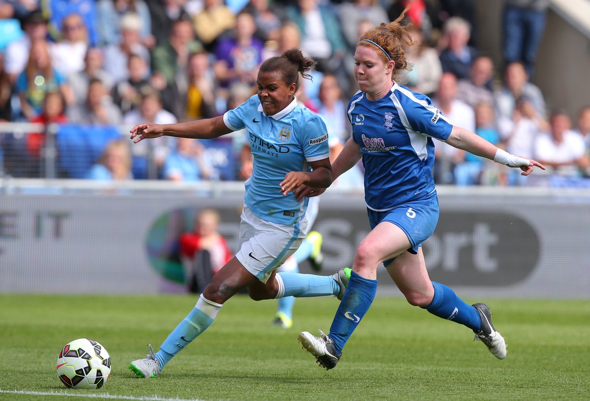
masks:
<instances>
[{"instance_id":1,"label":"dark blue sock on red-haired player's raised trailing leg","mask_svg":"<svg viewBox=\"0 0 590 401\"><path fill-rule=\"evenodd\" d=\"M446 285L432 281L432 287L434 287L434 298L430 305L423 309L443 319L463 324L471 330L480 329L481 317L476 308L457 297L455 291Z\"/></svg>"}]
</instances>

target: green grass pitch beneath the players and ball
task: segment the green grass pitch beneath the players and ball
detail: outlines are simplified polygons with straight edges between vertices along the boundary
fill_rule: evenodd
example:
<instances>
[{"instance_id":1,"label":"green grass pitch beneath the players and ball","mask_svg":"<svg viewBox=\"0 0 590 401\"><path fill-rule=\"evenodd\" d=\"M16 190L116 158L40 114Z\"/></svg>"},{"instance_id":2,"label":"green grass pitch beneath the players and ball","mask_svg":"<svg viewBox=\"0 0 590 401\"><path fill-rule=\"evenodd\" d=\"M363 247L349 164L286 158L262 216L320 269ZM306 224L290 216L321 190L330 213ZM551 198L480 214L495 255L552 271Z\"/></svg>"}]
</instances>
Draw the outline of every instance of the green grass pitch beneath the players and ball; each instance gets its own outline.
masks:
<instances>
[{"instance_id":1,"label":"green grass pitch beneath the players and ball","mask_svg":"<svg viewBox=\"0 0 590 401\"><path fill-rule=\"evenodd\" d=\"M300 299L294 326L271 326L275 301L244 295L156 379L127 366L159 344L196 303L153 297L0 295L0 400L588 400L590 301L487 300L508 355L493 357L466 327L378 297L326 372L297 343L299 331L328 331L334 298ZM477 300L467 300L477 301ZM55 360L68 341L89 337L109 351L100 390L68 390Z\"/></svg>"}]
</instances>

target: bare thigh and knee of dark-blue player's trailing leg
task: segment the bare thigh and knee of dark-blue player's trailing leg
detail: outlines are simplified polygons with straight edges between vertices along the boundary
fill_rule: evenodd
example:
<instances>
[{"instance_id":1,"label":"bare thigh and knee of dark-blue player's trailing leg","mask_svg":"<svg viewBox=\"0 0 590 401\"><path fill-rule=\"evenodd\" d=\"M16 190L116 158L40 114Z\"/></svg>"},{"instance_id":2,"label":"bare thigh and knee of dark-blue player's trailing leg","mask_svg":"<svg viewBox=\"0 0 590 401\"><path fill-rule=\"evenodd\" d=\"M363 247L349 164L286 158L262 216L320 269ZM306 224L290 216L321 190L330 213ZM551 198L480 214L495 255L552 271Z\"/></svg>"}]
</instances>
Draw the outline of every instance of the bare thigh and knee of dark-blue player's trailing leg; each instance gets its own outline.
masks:
<instances>
[{"instance_id":1,"label":"bare thigh and knee of dark-blue player's trailing leg","mask_svg":"<svg viewBox=\"0 0 590 401\"><path fill-rule=\"evenodd\" d=\"M422 247L417 254L404 252L386 266L399 291L411 304L425 306L432 300L434 289L426 269Z\"/></svg>"}]
</instances>

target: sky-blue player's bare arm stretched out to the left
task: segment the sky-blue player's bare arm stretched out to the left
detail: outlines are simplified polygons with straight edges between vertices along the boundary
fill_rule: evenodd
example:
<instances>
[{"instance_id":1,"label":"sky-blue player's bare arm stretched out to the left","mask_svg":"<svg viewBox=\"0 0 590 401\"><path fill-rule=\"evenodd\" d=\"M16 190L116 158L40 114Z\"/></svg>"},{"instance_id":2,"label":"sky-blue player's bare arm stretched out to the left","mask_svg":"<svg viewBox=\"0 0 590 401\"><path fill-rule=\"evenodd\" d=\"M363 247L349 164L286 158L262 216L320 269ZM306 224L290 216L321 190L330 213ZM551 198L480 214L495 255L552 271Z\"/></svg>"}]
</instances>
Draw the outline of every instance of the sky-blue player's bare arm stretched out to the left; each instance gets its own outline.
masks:
<instances>
[{"instance_id":1,"label":"sky-blue player's bare arm stretched out to the left","mask_svg":"<svg viewBox=\"0 0 590 401\"><path fill-rule=\"evenodd\" d=\"M224 123L223 116L212 119L187 121L176 124L137 124L130 131L133 143L163 135L194 139L212 139L232 132Z\"/></svg>"}]
</instances>

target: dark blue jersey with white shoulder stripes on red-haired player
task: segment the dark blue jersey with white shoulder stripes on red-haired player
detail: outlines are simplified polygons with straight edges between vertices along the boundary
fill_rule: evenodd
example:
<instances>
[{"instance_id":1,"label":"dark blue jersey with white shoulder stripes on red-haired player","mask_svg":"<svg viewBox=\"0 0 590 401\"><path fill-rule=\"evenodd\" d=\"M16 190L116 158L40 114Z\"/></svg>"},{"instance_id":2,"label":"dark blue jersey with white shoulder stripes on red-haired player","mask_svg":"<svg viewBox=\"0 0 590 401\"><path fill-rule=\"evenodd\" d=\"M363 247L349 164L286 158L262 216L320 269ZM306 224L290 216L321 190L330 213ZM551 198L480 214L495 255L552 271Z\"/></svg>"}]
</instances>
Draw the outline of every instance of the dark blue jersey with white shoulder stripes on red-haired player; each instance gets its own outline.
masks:
<instances>
[{"instance_id":1,"label":"dark blue jersey with white shoulder stripes on red-haired player","mask_svg":"<svg viewBox=\"0 0 590 401\"><path fill-rule=\"evenodd\" d=\"M379 100L358 91L348 104L352 138L365 166L365 202L386 211L434 190L432 137L446 140L453 125L430 98L396 83Z\"/></svg>"}]
</instances>

